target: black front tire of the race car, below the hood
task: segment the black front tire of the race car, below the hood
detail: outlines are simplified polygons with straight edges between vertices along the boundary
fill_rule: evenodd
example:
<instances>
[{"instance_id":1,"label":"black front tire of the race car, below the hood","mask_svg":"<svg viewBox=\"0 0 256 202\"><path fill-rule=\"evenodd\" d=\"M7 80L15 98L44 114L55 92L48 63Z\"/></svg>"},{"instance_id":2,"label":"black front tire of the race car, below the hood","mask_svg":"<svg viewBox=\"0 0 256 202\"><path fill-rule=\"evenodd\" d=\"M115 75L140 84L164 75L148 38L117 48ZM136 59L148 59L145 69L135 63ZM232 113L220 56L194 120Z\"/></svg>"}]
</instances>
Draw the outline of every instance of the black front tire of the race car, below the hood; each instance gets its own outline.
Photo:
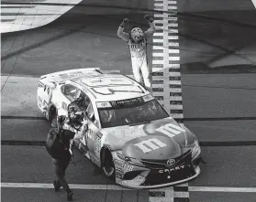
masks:
<instances>
[{"instance_id":1,"label":"black front tire of the race car, below the hood","mask_svg":"<svg viewBox=\"0 0 256 202\"><path fill-rule=\"evenodd\" d=\"M110 179L116 178L116 168L113 161L112 154L108 149L104 149L102 154L102 170L106 176Z\"/></svg>"}]
</instances>

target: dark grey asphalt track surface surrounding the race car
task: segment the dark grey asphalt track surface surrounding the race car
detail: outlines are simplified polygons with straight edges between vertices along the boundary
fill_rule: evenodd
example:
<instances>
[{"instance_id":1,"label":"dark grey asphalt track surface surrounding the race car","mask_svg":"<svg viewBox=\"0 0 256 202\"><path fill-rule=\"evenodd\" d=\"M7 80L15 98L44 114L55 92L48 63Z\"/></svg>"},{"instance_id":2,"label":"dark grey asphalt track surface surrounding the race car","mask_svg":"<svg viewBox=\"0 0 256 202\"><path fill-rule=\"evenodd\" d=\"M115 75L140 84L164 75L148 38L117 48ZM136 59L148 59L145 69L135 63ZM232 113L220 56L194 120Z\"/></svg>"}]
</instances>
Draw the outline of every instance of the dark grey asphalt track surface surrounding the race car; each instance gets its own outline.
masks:
<instances>
[{"instance_id":1,"label":"dark grey asphalt track surface surrounding the race car","mask_svg":"<svg viewBox=\"0 0 256 202\"><path fill-rule=\"evenodd\" d=\"M255 7L250 1L190 0L180 1L178 10L184 124L197 135L206 161L183 201L254 202ZM2 184L3 201L65 200L49 188L54 175L41 143L50 124L36 106L37 78L83 67L131 74L128 47L117 38L124 17L69 13L49 26L2 36L1 178L10 186ZM128 17L130 24L137 21L136 15ZM141 16L139 23L146 27ZM78 151L75 161L68 181L89 185L74 189L75 201L173 201L167 192L154 199L148 190L115 186Z\"/></svg>"}]
</instances>

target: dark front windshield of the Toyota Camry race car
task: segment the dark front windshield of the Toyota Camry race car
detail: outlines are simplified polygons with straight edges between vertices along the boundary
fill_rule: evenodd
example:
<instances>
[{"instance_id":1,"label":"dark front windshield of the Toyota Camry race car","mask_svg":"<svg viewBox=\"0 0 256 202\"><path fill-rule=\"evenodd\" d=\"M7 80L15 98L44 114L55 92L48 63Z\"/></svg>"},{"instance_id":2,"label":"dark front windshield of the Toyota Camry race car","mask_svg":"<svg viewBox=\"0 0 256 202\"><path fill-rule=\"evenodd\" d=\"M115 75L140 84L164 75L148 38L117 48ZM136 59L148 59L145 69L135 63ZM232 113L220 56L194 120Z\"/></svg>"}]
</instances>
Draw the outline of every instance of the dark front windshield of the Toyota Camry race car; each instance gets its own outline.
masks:
<instances>
[{"instance_id":1,"label":"dark front windshield of the Toyota Camry race car","mask_svg":"<svg viewBox=\"0 0 256 202\"><path fill-rule=\"evenodd\" d=\"M156 100L133 102L128 106L122 104L122 106L99 108L98 111L103 128L134 125L169 117Z\"/></svg>"}]
</instances>

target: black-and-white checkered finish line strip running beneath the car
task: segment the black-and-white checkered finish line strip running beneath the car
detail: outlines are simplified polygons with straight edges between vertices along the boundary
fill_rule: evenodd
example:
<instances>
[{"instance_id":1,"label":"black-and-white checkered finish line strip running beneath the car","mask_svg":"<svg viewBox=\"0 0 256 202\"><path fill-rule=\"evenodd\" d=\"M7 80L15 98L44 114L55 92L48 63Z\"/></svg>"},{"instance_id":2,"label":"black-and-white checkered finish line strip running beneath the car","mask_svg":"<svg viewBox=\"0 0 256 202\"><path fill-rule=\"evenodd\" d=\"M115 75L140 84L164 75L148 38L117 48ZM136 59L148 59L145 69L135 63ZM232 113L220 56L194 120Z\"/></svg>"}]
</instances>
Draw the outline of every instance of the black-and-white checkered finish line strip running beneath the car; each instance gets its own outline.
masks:
<instances>
[{"instance_id":1,"label":"black-and-white checkered finish line strip running beneath the car","mask_svg":"<svg viewBox=\"0 0 256 202\"><path fill-rule=\"evenodd\" d=\"M152 91L169 114L181 122L184 118L177 2L155 0L157 31L152 48ZM150 202L189 202L188 184L150 190Z\"/></svg>"}]
</instances>

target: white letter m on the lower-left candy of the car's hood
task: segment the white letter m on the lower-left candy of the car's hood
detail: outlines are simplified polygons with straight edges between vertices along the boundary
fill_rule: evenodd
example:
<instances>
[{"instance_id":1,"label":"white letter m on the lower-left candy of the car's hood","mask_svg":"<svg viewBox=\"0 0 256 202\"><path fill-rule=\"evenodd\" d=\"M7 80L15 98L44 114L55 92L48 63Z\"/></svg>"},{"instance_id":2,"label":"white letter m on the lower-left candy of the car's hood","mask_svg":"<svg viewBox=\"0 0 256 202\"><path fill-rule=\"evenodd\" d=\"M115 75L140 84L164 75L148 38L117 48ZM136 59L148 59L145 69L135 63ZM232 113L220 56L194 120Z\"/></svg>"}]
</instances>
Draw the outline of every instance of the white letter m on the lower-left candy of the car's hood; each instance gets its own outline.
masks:
<instances>
[{"instance_id":1,"label":"white letter m on the lower-left candy of the car's hood","mask_svg":"<svg viewBox=\"0 0 256 202\"><path fill-rule=\"evenodd\" d=\"M150 151L166 146L166 144L161 143L161 141L156 138L145 140L140 142L139 144L134 144L134 145L138 146L139 149L143 151L143 153L148 153Z\"/></svg>"}]
</instances>

